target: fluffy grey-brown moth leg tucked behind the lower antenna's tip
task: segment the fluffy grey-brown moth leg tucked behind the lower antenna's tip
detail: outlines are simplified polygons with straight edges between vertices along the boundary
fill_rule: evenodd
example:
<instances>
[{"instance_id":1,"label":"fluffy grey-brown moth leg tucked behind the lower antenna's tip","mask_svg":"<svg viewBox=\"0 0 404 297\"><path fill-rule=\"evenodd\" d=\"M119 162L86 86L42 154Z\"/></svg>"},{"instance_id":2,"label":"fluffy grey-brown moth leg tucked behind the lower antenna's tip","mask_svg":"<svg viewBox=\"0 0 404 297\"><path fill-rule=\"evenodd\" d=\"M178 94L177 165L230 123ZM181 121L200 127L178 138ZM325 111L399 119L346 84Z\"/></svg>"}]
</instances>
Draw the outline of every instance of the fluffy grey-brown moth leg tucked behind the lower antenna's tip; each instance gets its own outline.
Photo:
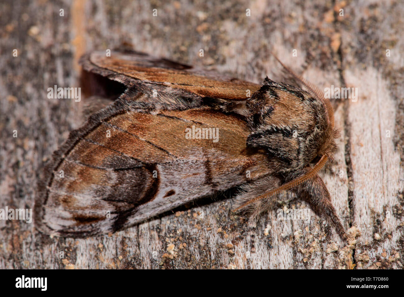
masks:
<instances>
[{"instance_id":1,"label":"fluffy grey-brown moth leg tucked behind the lower antenna's tip","mask_svg":"<svg viewBox=\"0 0 404 297\"><path fill-rule=\"evenodd\" d=\"M263 195L281 184L281 180L272 175L263 177L252 183L247 183L241 186L241 193L234 198L233 209L237 209L249 200ZM243 213L248 213L248 226L254 227L262 213L269 211L274 206L278 195L274 195L265 199L258 200L256 202L246 205L240 209Z\"/></svg>"}]
</instances>

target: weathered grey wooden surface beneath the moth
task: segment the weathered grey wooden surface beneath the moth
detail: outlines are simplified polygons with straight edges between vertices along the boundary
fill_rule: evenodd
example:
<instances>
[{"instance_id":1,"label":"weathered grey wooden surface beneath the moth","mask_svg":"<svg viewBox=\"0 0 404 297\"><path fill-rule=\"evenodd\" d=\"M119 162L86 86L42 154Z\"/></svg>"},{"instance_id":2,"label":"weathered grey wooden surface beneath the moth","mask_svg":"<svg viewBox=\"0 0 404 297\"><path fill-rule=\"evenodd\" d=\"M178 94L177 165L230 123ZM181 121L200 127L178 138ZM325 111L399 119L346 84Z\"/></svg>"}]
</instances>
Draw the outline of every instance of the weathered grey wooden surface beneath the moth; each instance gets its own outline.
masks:
<instances>
[{"instance_id":1,"label":"weathered grey wooden surface beneath the moth","mask_svg":"<svg viewBox=\"0 0 404 297\"><path fill-rule=\"evenodd\" d=\"M336 161L321 173L351 234L349 243L313 211L309 223L277 220L276 209L309 207L294 195L255 229L231 213L231 199L217 197L122 232L79 240L50 238L34 223L2 220L0 268L401 269L404 3L190 2L0 3L0 208L33 208L43 160L80 126L83 102L48 99L47 88L80 86L77 62L83 53L128 43L261 83L266 75L282 77L274 51L320 89L358 88L356 102L333 100L342 137Z\"/></svg>"}]
</instances>

